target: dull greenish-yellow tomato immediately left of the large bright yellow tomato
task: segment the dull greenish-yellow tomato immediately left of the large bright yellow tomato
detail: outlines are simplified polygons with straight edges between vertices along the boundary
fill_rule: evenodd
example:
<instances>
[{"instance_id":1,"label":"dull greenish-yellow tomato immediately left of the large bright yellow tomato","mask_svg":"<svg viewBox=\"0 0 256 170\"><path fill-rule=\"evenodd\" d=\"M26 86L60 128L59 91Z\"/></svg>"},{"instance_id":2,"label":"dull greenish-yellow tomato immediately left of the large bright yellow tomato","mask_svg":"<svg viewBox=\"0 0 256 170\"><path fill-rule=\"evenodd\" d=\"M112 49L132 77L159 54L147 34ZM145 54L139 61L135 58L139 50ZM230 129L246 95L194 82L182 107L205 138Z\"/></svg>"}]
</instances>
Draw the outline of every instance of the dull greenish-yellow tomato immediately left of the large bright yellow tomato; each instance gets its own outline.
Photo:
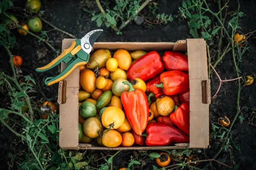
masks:
<instances>
[{"instance_id":1,"label":"dull greenish-yellow tomato immediately left of the large bright yellow tomato","mask_svg":"<svg viewBox=\"0 0 256 170\"><path fill-rule=\"evenodd\" d=\"M83 125L84 134L87 135L89 138L96 138L99 136L99 133L102 132L102 123L96 117L90 117L89 119L85 120Z\"/></svg>"}]
</instances>

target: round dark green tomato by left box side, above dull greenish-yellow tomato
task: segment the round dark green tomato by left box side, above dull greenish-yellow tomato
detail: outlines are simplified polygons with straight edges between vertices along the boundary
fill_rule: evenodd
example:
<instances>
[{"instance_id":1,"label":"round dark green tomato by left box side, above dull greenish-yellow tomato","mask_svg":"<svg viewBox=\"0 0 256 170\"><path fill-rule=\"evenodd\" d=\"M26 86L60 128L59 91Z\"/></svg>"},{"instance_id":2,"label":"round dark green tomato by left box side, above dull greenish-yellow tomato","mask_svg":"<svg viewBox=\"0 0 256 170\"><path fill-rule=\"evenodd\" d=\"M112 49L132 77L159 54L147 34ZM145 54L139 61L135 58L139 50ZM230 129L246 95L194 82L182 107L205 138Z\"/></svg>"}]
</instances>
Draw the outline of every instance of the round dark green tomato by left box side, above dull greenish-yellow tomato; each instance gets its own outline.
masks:
<instances>
[{"instance_id":1,"label":"round dark green tomato by left box side, above dull greenish-yellow tomato","mask_svg":"<svg viewBox=\"0 0 256 170\"><path fill-rule=\"evenodd\" d=\"M87 119L89 117L96 116L97 110L93 103L85 101L85 102L82 102L80 106L79 114L80 116Z\"/></svg>"}]
</instances>

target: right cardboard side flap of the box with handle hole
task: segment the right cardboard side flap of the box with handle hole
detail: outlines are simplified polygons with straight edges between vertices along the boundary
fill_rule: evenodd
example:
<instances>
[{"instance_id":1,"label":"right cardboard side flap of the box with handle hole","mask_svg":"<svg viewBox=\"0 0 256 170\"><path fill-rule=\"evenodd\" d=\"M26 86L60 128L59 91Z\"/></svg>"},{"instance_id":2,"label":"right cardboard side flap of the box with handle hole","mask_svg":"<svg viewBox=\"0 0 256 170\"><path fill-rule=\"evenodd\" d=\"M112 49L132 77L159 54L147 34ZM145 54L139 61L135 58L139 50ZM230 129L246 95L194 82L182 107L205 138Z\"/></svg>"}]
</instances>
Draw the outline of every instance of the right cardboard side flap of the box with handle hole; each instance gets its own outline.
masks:
<instances>
[{"instance_id":1,"label":"right cardboard side flap of the box with handle hole","mask_svg":"<svg viewBox=\"0 0 256 170\"><path fill-rule=\"evenodd\" d=\"M203 96L204 92L209 92L210 89L208 86L206 42L204 39L187 39L187 55L190 88L190 148L208 147L209 101ZM202 82L207 82L207 86ZM203 100L206 100L206 102L203 103Z\"/></svg>"}]
</instances>

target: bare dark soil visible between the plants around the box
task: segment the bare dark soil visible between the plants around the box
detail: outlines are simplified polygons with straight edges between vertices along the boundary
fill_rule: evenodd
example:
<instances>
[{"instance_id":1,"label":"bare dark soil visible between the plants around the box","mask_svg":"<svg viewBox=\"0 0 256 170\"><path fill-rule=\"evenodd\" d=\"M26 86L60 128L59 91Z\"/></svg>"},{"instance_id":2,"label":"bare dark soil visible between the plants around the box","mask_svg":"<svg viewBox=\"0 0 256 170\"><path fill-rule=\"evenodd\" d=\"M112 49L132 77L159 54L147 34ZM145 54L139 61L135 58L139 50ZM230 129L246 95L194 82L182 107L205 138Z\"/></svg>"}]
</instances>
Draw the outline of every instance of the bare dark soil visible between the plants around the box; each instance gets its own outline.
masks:
<instances>
[{"instance_id":1,"label":"bare dark soil visible between the plants around the box","mask_svg":"<svg viewBox=\"0 0 256 170\"><path fill-rule=\"evenodd\" d=\"M25 0L16 1L14 6L23 7ZM77 37L82 37L85 33L90 30L98 29L94 21L90 21L91 17L85 15L84 12L79 9L81 4L79 1L70 0L41 0L42 8L45 11L45 17L47 21L50 21L55 26L70 32ZM239 25L241 26L242 33L248 33L256 29L255 23L255 2L254 0L241 1L240 11L244 12L245 17L240 20ZM181 5L181 1L161 0L158 2L159 13L165 12L166 14L178 15L178 6ZM211 6L215 6L216 3L213 1ZM211 8L210 6L210 8ZM237 8L237 2L233 0L230 2L230 7L232 10ZM97 8L94 8L98 11ZM43 23L43 30L52 29ZM122 32L123 35L116 35L110 28L105 26L101 27L104 32L98 38L97 41L104 42L175 42L177 40L191 38L189 34L189 27L186 21L179 20L175 18L174 21L168 23L167 25L155 25L151 30L148 30L144 26L138 26L135 23L126 26ZM55 54L43 43L38 42L32 36L20 36L13 30L13 34L17 38L17 45L12 49L12 53L16 55L23 56L23 75L31 74L35 72L35 68L49 63ZM69 38L66 35L59 33L57 31L52 31L48 33L50 40L54 41L53 44L55 48L61 49L61 41L63 38ZM242 75L256 74L256 48L255 39L249 39L250 51L247 51L240 64L240 69ZM3 71L10 72L9 67L9 57L1 49L1 62L0 68ZM40 59L38 58L40 57ZM233 65L233 59L231 55L226 55L222 62L216 67L216 71L219 73L222 80L236 78L235 68ZM11 73L11 72L10 72ZM52 75L58 74L58 68L55 68L51 73L47 72L44 74L36 73L37 82L40 82L42 87L42 92L47 98L52 98L56 102L57 99L57 84L53 86L45 86L44 79ZM215 94L219 86L219 80L215 73L211 74L211 91L212 95ZM256 148L256 128L248 123L248 118L251 115L251 110L256 106L256 83L251 86L243 87L241 90L240 105L241 108L246 106L248 109L241 111L241 115L245 117L243 122L236 120L235 125L232 128L232 138L237 146L241 148L241 154L233 148L228 148L227 151L222 151L221 154L216 158L217 160L224 162L225 164L232 165L238 164L240 162L240 168L243 170L255 170L256 163L254 161L255 148ZM40 100L43 95L39 92L37 100ZM216 98L210 104L210 122L218 122L218 117L222 115L227 115L232 122L236 114L236 97L237 97L237 81L226 82L221 86ZM22 162L24 155L26 154L26 145L19 142L20 138L15 137L8 129L2 128L0 132L0 167L1 169L8 169L8 164L11 162L11 155L17 156L17 162ZM210 125L211 129L211 125ZM17 142L19 142L17 144ZM200 159L211 159L213 155L219 150L219 141L210 140L209 149L201 150L202 153L197 153ZM16 145L15 145L16 144ZM100 152L94 151L94 153L100 154ZM114 152L113 152L114 153ZM205 153L205 154L204 154ZM122 151L122 154L114 158L114 165L117 167L125 167L130 160L130 156L136 158L136 152L132 151ZM100 157L100 155L99 155ZM244 164L242 162L244 161ZM155 164L153 160L147 160L147 164L143 169L152 169L152 164ZM204 163L201 163L199 167L204 167ZM213 169L225 169L224 166L212 163ZM210 167L209 167L210 169Z\"/></svg>"}]
</instances>

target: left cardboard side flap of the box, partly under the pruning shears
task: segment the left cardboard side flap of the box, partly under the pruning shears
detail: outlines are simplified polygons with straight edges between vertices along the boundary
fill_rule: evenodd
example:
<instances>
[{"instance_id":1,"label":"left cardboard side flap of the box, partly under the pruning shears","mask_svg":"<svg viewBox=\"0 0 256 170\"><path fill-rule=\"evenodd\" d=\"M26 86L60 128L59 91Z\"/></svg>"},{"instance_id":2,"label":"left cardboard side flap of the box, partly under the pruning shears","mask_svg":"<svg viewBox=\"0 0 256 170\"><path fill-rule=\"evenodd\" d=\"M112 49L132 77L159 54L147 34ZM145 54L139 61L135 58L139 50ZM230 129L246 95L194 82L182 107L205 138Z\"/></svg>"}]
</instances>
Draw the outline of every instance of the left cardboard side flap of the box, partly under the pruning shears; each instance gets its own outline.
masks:
<instances>
[{"instance_id":1,"label":"left cardboard side flap of the box, partly under the pruning shears","mask_svg":"<svg viewBox=\"0 0 256 170\"><path fill-rule=\"evenodd\" d=\"M62 51L69 48L72 39L62 41ZM61 63L61 71L66 68L65 63ZM78 147L78 90L79 90L79 67L68 75L60 83L59 105L59 146L63 149L79 149ZM65 89L65 90L64 90ZM67 93L66 93L67 91ZM63 102L65 98L66 102Z\"/></svg>"}]
</instances>

